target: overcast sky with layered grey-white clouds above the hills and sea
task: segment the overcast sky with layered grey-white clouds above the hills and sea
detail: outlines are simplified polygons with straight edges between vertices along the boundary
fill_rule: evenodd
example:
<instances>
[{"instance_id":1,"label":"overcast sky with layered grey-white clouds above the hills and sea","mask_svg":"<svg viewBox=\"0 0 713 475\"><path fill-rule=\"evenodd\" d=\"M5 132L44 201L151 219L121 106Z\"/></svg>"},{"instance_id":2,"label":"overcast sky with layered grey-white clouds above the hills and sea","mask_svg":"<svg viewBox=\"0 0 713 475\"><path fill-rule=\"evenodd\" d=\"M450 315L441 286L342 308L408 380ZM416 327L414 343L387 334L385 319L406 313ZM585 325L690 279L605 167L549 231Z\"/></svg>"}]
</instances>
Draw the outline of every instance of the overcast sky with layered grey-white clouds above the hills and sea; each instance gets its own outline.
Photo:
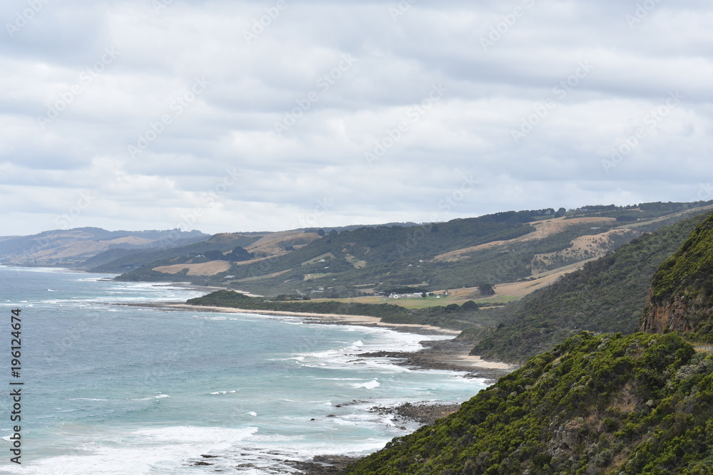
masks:
<instances>
[{"instance_id":1,"label":"overcast sky with layered grey-white clouds above the hills and sea","mask_svg":"<svg viewBox=\"0 0 713 475\"><path fill-rule=\"evenodd\" d=\"M709 1L0 5L0 235L713 199Z\"/></svg>"}]
</instances>

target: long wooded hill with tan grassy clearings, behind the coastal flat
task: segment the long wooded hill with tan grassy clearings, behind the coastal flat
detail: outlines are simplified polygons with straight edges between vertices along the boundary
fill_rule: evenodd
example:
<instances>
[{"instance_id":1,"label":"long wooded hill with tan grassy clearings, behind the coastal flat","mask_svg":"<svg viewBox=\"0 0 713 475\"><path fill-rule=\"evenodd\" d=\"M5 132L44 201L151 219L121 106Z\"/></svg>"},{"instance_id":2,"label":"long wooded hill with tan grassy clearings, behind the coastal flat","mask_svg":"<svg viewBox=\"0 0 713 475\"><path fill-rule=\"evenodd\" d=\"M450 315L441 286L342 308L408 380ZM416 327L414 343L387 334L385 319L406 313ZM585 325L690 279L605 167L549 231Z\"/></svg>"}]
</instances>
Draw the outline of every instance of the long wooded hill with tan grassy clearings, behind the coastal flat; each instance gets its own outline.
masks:
<instances>
[{"instance_id":1,"label":"long wooded hill with tan grassy clearings, behind the coastal flat","mask_svg":"<svg viewBox=\"0 0 713 475\"><path fill-rule=\"evenodd\" d=\"M550 208L415 226L284 231L283 241L275 240L279 233L262 235L261 241L274 241L272 249L257 249L260 241L243 244L251 259L235 261L225 247L210 265L190 251L136 255L95 270L128 270L120 277L126 281L170 281L181 273L182 280L262 295L334 298L404 286L476 288L583 266L712 203L591 206L566 213Z\"/></svg>"}]
</instances>

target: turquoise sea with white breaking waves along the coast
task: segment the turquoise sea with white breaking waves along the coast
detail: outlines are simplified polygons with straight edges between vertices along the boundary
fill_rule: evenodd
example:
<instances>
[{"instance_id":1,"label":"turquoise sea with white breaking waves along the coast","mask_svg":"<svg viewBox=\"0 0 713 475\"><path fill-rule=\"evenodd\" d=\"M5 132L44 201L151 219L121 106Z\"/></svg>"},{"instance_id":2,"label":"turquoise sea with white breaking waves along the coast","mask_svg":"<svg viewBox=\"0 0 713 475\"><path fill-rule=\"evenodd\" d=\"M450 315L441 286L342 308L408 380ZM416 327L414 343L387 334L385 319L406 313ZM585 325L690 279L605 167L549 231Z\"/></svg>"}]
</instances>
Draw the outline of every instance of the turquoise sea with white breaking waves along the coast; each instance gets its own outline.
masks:
<instances>
[{"instance_id":1,"label":"turquoise sea with white breaking waves along the coast","mask_svg":"<svg viewBox=\"0 0 713 475\"><path fill-rule=\"evenodd\" d=\"M24 382L21 466L9 462L10 390L0 390L0 473L291 473L285 459L367 454L416 428L370 407L461 402L485 387L359 357L445 337L121 306L202 293L108 277L0 267L0 355L9 355L19 307ZM0 370L9 388L9 356Z\"/></svg>"}]
</instances>

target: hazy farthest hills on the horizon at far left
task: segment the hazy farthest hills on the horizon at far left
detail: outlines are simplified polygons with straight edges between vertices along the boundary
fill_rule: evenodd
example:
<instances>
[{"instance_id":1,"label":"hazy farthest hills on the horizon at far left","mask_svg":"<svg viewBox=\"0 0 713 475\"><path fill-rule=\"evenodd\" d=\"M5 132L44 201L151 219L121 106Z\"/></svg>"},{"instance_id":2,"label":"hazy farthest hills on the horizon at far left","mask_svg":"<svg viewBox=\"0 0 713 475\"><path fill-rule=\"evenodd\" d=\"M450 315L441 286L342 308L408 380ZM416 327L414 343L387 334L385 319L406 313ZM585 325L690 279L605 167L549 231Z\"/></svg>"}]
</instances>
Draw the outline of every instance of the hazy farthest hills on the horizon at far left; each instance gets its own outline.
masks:
<instances>
[{"instance_id":1,"label":"hazy farthest hills on the horizon at far left","mask_svg":"<svg viewBox=\"0 0 713 475\"><path fill-rule=\"evenodd\" d=\"M0 237L0 263L73 266L105 251L182 246L207 238L200 231L107 231L85 227L32 236Z\"/></svg>"}]
</instances>

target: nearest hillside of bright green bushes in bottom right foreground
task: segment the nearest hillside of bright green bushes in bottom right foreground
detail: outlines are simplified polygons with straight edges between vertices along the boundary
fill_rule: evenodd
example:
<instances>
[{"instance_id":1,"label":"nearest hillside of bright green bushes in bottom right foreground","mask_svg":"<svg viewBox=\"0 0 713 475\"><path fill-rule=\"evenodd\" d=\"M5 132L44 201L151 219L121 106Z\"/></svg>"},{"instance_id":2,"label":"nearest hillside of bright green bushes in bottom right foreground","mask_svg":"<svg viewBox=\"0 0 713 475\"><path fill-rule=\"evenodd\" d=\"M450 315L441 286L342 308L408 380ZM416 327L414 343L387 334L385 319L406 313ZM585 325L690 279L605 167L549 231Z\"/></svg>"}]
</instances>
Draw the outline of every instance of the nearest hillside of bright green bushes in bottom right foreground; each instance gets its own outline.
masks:
<instances>
[{"instance_id":1,"label":"nearest hillside of bright green bushes in bottom right foreground","mask_svg":"<svg viewBox=\"0 0 713 475\"><path fill-rule=\"evenodd\" d=\"M344 474L709 474L713 357L580 333Z\"/></svg>"}]
</instances>

